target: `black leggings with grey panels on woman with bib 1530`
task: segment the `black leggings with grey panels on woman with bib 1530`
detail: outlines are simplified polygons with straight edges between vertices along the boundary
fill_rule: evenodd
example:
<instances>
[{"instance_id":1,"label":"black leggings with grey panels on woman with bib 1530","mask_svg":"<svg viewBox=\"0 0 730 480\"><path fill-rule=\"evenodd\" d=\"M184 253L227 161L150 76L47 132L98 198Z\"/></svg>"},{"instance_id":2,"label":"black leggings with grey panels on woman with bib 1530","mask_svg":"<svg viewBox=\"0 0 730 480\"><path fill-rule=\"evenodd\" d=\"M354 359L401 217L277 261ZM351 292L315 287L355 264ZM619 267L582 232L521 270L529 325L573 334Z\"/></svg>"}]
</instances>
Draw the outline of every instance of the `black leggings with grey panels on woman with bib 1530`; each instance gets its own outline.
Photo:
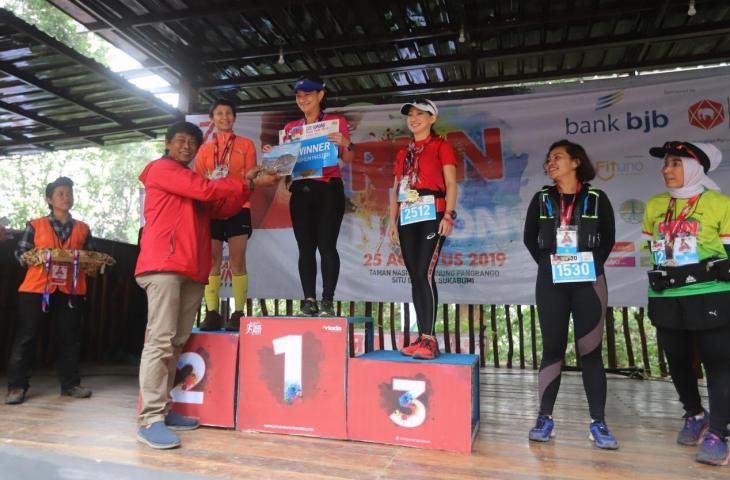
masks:
<instances>
[{"instance_id":1,"label":"black leggings with grey panels on woman with bib 1530","mask_svg":"<svg viewBox=\"0 0 730 480\"><path fill-rule=\"evenodd\" d=\"M540 414L553 413L568 346L568 322L572 314L588 410L593 420L604 421L606 372L601 358L601 340L608 297L605 276L599 275L595 282L556 285L552 280L550 264L541 263L535 297L542 333L542 362L538 375Z\"/></svg>"}]
</instances>

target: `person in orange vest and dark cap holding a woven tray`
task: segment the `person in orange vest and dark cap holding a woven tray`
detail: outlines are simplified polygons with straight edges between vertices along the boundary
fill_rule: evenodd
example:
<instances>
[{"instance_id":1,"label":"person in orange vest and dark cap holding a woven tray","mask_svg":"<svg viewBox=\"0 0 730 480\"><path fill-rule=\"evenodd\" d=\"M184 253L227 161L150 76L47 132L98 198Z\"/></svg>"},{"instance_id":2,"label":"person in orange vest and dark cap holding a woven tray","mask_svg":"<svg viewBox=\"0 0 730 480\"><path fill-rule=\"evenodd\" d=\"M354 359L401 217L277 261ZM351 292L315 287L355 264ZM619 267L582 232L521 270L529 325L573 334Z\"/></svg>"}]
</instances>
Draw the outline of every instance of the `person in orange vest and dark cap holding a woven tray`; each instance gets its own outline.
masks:
<instances>
[{"instance_id":1,"label":"person in orange vest and dark cap holding a woven tray","mask_svg":"<svg viewBox=\"0 0 730 480\"><path fill-rule=\"evenodd\" d=\"M89 226L71 217L74 204L73 182L59 177L46 186L46 201L51 213L28 222L18 242L15 256L33 248L94 250ZM86 276L78 262L29 266L25 280L18 288L18 322L8 363L6 404L25 401L33 366L38 328L52 322L56 344L58 379L61 395L88 398L91 390L81 386L79 349L83 323Z\"/></svg>"}]
</instances>

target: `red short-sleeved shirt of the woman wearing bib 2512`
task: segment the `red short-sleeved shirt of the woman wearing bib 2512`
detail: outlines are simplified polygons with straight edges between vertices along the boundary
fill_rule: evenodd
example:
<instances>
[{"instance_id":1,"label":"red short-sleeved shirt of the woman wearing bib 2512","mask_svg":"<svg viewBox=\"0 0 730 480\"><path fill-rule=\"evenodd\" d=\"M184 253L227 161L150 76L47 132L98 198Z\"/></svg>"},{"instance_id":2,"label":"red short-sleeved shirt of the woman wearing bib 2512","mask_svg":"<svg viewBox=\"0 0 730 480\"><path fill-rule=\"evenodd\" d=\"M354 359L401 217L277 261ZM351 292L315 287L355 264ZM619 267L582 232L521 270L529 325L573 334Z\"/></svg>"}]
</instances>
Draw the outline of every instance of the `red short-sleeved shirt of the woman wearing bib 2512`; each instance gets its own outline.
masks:
<instances>
[{"instance_id":1,"label":"red short-sleeved shirt of the woman wearing bib 2512","mask_svg":"<svg viewBox=\"0 0 730 480\"><path fill-rule=\"evenodd\" d=\"M449 142L443 138L429 137L416 142L416 148L425 145L423 151L418 155L418 183L416 190L437 190L446 193L446 182L444 181L444 165L456 166L456 155ZM395 169L393 174L400 181L405 175L405 163L408 147L402 148L395 156Z\"/></svg>"}]
</instances>

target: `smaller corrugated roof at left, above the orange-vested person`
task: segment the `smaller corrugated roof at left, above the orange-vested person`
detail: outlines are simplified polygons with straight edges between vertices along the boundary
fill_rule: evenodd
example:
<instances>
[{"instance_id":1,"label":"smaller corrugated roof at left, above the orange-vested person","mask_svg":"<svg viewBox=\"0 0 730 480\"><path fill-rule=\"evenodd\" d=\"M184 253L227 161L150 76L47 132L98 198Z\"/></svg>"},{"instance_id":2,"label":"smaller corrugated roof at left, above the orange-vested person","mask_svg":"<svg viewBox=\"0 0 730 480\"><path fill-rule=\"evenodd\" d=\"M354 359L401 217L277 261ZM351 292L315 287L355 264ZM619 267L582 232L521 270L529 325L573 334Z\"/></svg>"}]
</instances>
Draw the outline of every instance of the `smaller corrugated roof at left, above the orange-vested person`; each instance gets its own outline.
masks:
<instances>
[{"instance_id":1,"label":"smaller corrugated roof at left, above the orange-vested person","mask_svg":"<svg viewBox=\"0 0 730 480\"><path fill-rule=\"evenodd\" d=\"M182 114L0 9L0 155L157 138Z\"/></svg>"}]
</instances>

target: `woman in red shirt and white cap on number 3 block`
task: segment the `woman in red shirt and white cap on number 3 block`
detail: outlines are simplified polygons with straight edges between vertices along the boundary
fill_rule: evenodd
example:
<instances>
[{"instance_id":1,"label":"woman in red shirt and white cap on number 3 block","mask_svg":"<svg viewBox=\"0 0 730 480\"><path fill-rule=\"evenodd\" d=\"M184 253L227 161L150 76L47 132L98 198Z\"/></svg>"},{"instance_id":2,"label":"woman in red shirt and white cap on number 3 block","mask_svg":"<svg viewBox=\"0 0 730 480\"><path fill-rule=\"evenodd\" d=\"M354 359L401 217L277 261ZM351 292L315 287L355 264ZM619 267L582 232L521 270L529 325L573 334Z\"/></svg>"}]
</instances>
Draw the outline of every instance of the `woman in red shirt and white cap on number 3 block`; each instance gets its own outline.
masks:
<instances>
[{"instance_id":1,"label":"woman in red shirt and white cap on number 3 block","mask_svg":"<svg viewBox=\"0 0 730 480\"><path fill-rule=\"evenodd\" d=\"M388 229L391 241L400 243L411 279L419 332L418 339L401 353L430 360L439 355L434 271L443 239L451 235L456 219L456 156L446 139L433 130L438 108L432 101L406 103L401 114L407 116L413 138L396 156Z\"/></svg>"}]
</instances>

